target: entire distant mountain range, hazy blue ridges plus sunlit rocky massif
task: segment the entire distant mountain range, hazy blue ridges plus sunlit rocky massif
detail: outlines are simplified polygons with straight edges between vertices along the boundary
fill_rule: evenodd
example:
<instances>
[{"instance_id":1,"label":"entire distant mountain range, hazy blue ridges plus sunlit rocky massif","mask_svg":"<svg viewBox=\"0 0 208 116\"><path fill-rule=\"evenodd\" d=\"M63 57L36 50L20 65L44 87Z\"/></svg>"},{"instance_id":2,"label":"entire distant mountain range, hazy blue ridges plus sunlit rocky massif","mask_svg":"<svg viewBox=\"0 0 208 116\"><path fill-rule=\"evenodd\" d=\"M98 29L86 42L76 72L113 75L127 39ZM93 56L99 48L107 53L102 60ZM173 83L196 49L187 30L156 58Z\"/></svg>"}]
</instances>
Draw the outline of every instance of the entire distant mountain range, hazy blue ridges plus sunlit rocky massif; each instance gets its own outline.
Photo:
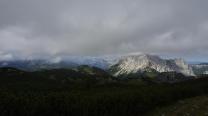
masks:
<instances>
[{"instance_id":1,"label":"entire distant mountain range, hazy blue ridges plus sunlit rocky massif","mask_svg":"<svg viewBox=\"0 0 208 116\"><path fill-rule=\"evenodd\" d=\"M188 64L183 59L162 59L156 55L131 54L126 56L69 57L67 60L0 61L0 67L13 67L25 71L43 69L71 69L88 65L103 69L113 76L143 72L176 72L185 76L208 74L208 64Z\"/></svg>"}]
</instances>

